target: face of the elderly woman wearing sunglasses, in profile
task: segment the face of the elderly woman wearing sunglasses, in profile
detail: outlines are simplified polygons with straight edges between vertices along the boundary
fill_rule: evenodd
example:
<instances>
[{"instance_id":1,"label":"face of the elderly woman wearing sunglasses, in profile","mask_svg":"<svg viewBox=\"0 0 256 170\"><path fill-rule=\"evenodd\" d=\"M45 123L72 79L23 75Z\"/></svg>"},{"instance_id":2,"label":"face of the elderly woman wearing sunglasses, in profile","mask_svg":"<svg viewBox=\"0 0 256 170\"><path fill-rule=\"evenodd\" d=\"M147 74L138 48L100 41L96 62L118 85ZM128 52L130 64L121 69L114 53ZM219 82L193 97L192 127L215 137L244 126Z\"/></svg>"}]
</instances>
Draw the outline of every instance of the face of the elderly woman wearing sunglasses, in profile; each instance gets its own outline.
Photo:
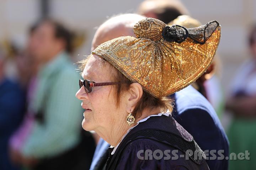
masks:
<instances>
[{"instance_id":1,"label":"face of the elderly woman wearing sunglasses, in profile","mask_svg":"<svg viewBox=\"0 0 256 170\"><path fill-rule=\"evenodd\" d=\"M113 82L108 66L102 65L102 58L97 55L90 57L82 77L95 83ZM81 106L85 109L82 127L87 131L110 128L116 124L122 114L125 114L122 109L125 106L122 102L119 108L116 107L113 85L92 87L89 94L85 92L84 87L81 87L76 97L82 101Z\"/></svg>"}]
</instances>

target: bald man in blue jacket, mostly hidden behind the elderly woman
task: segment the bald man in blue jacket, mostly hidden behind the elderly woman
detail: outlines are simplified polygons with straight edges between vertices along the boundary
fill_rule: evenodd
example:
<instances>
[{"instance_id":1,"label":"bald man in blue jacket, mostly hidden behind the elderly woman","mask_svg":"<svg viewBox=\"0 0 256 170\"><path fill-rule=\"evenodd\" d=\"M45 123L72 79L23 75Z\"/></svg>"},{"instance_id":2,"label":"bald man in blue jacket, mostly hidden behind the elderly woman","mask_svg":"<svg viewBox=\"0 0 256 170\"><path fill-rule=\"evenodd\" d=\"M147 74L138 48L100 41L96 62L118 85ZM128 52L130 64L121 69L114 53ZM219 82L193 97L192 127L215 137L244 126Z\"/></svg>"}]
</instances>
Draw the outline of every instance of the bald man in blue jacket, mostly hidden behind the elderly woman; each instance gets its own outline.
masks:
<instances>
[{"instance_id":1,"label":"bald man in blue jacket, mostly hidden behind the elderly woman","mask_svg":"<svg viewBox=\"0 0 256 170\"><path fill-rule=\"evenodd\" d=\"M134 23L140 21L143 16L136 14L124 14L112 17L104 22L96 31L92 40L93 51L98 45L119 36L134 36ZM220 124L220 121L210 105L210 103L193 87L189 86L176 92L172 97L175 100L172 112L174 118L194 137L198 145L203 150L225 151L229 153L228 139ZM202 125L204 128L202 128ZM102 138L98 142L94 159L91 164L92 169L102 169L108 158L108 147L110 145ZM227 160L207 160L210 169L226 170Z\"/></svg>"}]
</instances>

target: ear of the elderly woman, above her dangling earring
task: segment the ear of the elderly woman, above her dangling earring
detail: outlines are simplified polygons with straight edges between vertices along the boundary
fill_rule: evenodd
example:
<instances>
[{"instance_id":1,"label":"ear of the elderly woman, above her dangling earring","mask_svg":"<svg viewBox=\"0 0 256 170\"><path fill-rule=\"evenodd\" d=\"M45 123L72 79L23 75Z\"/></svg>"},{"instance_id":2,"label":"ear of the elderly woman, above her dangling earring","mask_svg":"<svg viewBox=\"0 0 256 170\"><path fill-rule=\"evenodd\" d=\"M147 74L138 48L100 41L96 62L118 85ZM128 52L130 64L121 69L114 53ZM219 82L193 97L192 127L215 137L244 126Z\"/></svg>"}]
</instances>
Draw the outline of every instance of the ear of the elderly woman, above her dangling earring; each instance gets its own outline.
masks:
<instances>
[{"instance_id":1,"label":"ear of the elderly woman, above her dangling earring","mask_svg":"<svg viewBox=\"0 0 256 170\"><path fill-rule=\"evenodd\" d=\"M139 83L132 83L130 85L130 91L129 91L129 97L128 97L128 106L127 106L127 109L126 109L128 113L133 111L136 104L142 98L142 95L143 95L142 86Z\"/></svg>"}]
</instances>

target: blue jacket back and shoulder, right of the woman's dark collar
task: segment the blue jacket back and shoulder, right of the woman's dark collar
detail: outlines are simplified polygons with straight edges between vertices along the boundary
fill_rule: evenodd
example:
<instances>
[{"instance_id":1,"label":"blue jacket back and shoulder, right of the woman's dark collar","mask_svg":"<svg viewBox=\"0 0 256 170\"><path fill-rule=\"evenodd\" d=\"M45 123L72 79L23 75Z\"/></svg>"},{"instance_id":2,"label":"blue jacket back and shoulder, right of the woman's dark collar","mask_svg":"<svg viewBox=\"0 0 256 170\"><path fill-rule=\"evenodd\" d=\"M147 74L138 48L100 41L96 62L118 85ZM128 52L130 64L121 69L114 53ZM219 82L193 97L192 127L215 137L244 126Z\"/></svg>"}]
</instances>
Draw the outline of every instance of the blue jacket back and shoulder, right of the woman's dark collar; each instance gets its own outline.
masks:
<instances>
[{"instance_id":1,"label":"blue jacket back and shoulder, right of the woman's dark collar","mask_svg":"<svg viewBox=\"0 0 256 170\"><path fill-rule=\"evenodd\" d=\"M222 160L207 160L210 170L227 170L229 141L212 105L192 86L174 94L172 116L190 133L203 150L224 150ZM221 157L215 153L217 157ZM209 157L212 155L209 153ZM223 157L223 156L222 156Z\"/></svg>"}]
</instances>

